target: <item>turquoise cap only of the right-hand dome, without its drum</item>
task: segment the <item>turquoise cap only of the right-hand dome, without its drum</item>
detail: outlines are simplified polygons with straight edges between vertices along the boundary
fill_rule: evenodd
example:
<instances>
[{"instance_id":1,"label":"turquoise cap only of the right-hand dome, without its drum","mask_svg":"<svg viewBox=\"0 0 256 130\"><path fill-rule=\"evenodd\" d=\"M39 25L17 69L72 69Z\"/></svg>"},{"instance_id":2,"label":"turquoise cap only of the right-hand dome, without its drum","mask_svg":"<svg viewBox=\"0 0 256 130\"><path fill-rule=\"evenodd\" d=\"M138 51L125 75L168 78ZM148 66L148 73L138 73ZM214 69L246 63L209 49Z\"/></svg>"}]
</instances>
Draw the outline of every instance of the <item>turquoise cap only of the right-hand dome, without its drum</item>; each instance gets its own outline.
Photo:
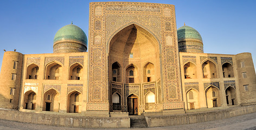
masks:
<instances>
[{"instance_id":1,"label":"turquoise cap only of the right-hand dome, without its drum","mask_svg":"<svg viewBox=\"0 0 256 130\"><path fill-rule=\"evenodd\" d=\"M177 36L178 36L178 41L185 40L185 39L196 39L196 40L203 41L199 32L187 25L184 25L181 28L178 28Z\"/></svg>"}]
</instances>

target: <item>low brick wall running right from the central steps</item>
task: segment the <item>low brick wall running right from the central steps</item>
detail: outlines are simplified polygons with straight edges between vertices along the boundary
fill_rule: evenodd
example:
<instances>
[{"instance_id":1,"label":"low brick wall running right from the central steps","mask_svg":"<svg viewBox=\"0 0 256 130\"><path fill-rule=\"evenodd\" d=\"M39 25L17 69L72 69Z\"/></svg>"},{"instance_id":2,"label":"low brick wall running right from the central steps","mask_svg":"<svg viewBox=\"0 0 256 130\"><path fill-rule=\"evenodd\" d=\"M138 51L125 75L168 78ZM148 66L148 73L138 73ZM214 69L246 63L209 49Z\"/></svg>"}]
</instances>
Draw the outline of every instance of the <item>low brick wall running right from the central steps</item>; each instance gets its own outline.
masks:
<instances>
[{"instance_id":1,"label":"low brick wall running right from the central steps","mask_svg":"<svg viewBox=\"0 0 256 130\"><path fill-rule=\"evenodd\" d=\"M194 124L205 121L220 120L256 112L256 105L233 107L210 112L187 113L168 116L147 116L149 127Z\"/></svg>"}]
</instances>

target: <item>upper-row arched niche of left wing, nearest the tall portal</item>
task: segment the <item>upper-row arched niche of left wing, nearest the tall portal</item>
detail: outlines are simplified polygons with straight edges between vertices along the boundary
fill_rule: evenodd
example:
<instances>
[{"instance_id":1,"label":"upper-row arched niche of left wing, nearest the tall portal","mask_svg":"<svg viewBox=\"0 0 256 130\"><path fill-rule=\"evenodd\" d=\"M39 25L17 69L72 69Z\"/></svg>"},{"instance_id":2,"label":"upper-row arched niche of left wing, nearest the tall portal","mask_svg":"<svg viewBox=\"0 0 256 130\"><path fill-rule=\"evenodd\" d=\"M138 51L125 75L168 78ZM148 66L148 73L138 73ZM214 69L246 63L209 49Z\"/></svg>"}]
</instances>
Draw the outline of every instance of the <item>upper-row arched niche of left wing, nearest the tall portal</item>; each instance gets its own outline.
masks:
<instances>
[{"instance_id":1,"label":"upper-row arched niche of left wing, nearest the tall portal","mask_svg":"<svg viewBox=\"0 0 256 130\"><path fill-rule=\"evenodd\" d=\"M81 80L82 78L82 65L79 63L74 63L69 68L69 80Z\"/></svg>"}]
</instances>

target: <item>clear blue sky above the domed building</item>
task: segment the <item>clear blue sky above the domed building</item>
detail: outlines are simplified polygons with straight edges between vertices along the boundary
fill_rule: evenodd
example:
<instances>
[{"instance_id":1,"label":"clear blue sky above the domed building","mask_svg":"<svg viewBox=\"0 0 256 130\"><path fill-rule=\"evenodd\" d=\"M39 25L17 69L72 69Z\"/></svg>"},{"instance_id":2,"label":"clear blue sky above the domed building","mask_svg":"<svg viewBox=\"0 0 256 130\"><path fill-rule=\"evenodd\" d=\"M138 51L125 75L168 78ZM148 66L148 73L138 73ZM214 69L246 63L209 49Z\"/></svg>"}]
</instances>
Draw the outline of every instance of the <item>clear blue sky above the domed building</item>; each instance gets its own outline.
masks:
<instances>
[{"instance_id":1,"label":"clear blue sky above the domed building","mask_svg":"<svg viewBox=\"0 0 256 130\"><path fill-rule=\"evenodd\" d=\"M114 0L112 0L114 1ZM22 54L53 53L53 38L61 27L73 23L88 37L89 2L103 1L1 1L0 66L4 51ZM256 66L256 1L151 2L174 4L177 28L185 22L203 38L204 53L252 53Z\"/></svg>"}]
</instances>

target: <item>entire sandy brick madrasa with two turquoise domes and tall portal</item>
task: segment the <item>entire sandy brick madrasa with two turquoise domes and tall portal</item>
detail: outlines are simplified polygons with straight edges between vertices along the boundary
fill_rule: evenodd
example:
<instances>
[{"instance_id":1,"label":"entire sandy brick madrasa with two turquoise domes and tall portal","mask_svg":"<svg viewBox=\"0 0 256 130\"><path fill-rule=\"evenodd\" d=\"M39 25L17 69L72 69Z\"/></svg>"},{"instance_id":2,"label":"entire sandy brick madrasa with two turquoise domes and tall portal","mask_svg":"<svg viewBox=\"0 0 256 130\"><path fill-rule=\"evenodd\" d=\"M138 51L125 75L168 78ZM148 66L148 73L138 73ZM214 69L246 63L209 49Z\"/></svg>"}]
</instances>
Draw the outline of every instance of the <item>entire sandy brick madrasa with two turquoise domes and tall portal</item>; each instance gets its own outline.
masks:
<instances>
[{"instance_id":1,"label":"entire sandy brick madrasa with two turquoise domes and tall portal","mask_svg":"<svg viewBox=\"0 0 256 130\"><path fill-rule=\"evenodd\" d=\"M4 53L0 108L109 117L256 102L251 54L204 53L197 30L176 28L174 5L89 7L88 40L69 24L56 32L53 53Z\"/></svg>"}]
</instances>

